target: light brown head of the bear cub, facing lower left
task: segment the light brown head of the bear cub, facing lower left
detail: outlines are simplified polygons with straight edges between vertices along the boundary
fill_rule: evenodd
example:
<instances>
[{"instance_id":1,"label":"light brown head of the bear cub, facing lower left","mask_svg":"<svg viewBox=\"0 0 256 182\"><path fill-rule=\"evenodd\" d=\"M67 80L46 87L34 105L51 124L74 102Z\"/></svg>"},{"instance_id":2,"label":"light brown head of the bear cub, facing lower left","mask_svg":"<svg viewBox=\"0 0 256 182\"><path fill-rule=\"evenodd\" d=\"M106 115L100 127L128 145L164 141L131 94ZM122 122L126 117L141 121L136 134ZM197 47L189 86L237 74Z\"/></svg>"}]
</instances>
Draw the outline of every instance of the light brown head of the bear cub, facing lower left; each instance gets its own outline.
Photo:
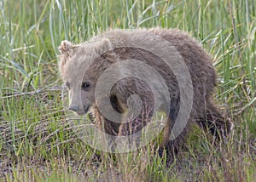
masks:
<instances>
[{"instance_id":1,"label":"light brown head of the bear cub, facing lower left","mask_svg":"<svg viewBox=\"0 0 256 182\"><path fill-rule=\"evenodd\" d=\"M115 61L111 43L108 38L77 45L65 40L59 50L59 70L68 90L69 109L84 115L96 103L98 77Z\"/></svg>"}]
</instances>

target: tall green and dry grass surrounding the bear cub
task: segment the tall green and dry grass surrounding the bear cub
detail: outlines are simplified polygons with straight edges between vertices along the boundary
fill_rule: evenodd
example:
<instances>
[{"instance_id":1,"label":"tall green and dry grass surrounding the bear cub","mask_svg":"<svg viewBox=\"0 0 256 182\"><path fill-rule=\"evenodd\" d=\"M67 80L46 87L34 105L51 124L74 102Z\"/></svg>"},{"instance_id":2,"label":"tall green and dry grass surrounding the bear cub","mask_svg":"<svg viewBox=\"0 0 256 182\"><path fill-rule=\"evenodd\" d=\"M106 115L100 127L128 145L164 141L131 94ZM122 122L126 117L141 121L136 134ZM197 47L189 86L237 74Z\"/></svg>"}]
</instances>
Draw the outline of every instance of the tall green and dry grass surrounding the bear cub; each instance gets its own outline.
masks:
<instances>
[{"instance_id":1,"label":"tall green and dry grass surrounding the bear cub","mask_svg":"<svg viewBox=\"0 0 256 182\"><path fill-rule=\"evenodd\" d=\"M253 0L0 1L0 178L4 181L256 179L256 6ZM151 145L110 156L85 145L61 99L58 46L109 28L189 31L212 54L215 100L235 123L226 143L200 129L166 166ZM83 126L86 123L83 124Z\"/></svg>"}]
</instances>

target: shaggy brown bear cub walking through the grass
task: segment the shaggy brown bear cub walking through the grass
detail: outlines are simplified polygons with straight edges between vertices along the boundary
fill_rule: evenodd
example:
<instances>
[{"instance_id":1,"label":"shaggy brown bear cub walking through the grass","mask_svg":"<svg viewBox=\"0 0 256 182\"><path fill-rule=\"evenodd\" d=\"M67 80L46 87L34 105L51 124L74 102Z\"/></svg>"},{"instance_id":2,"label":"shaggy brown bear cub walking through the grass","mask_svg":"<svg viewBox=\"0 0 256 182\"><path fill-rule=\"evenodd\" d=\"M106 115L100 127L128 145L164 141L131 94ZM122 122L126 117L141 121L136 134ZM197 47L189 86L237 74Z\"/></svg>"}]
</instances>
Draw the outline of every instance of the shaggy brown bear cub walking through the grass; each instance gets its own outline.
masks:
<instances>
[{"instance_id":1,"label":"shaggy brown bear cub walking through the grass","mask_svg":"<svg viewBox=\"0 0 256 182\"><path fill-rule=\"evenodd\" d=\"M60 52L69 109L79 115L91 111L105 134L136 134L154 120L155 110L166 114L162 149L177 151L192 123L218 138L230 133L230 119L212 102L217 77L212 58L183 31L112 30L86 43L62 41ZM177 122L183 124L175 133Z\"/></svg>"}]
</instances>

